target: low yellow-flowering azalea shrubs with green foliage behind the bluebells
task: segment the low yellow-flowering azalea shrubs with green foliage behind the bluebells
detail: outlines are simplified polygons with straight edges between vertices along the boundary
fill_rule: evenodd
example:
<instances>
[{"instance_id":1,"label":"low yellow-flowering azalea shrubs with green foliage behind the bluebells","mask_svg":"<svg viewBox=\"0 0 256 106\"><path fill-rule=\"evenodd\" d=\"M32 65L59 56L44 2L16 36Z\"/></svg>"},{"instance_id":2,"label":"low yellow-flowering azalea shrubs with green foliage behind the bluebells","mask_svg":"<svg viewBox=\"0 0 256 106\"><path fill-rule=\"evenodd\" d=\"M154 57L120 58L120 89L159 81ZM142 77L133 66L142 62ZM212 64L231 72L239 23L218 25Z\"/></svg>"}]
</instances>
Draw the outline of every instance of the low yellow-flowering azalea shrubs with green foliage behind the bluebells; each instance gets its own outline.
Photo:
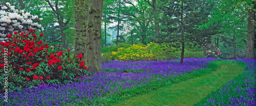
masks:
<instances>
[{"instance_id":1,"label":"low yellow-flowering azalea shrubs with green foliage behind the bluebells","mask_svg":"<svg viewBox=\"0 0 256 106\"><path fill-rule=\"evenodd\" d=\"M122 60L122 61L148 61L148 60L168 60L180 58L181 51L168 44L158 44L151 42L148 45L144 44L124 44L118 46L103 47L102 61ZM202 52L192 52L185 50L185 58L205 58Z\"/></svg>"}]
</instances>

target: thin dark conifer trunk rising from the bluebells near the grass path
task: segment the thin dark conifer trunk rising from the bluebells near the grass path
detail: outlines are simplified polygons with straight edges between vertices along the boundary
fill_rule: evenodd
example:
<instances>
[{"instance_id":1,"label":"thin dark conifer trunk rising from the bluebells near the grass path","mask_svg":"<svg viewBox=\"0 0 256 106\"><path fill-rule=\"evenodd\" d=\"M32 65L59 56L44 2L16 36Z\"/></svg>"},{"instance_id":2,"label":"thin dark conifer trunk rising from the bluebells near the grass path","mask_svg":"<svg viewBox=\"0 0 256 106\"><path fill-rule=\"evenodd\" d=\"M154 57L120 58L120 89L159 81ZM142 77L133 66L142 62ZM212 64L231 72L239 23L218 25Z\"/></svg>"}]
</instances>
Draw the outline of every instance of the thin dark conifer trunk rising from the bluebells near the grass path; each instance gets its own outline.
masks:
<instances>
[{"instance_id":1,"label":"thin dark conifer trunk rising from the bluebells near the grass path","mask_svg":"<svg viewBox=\"0 0 256 106\"><path fill-rule=\"evenodd\" d=\"M181 0L181 56L180 63L183 63L184 52L185 52L185 41L184 41L184 32L183 32L183 0Z\"/></svg>"}]
</instances>

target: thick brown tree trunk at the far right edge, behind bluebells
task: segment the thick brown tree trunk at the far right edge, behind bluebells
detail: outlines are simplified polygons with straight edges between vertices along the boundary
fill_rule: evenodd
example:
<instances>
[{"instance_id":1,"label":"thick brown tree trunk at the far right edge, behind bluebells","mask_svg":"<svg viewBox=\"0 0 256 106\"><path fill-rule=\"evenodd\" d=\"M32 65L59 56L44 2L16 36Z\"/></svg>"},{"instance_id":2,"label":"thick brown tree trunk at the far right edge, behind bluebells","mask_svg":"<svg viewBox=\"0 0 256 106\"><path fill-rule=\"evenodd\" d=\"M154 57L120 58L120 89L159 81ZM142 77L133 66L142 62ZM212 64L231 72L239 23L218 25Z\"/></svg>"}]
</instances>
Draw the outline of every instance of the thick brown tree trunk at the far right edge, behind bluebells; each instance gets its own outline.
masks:
<instances>
[{"instance_id":1,"label":"thick brown tree trunk at the far right edge, behind bluebells","mask_svg":"<svg viewBox=\"0 0 256 106\"><path fill-rule=\"evenodd\" d=\"M246 59L255 59L254 54L254 37L255 25L252 23L255 20L255 11L248 9L248 25L247 25L247 40L246 40Z\"/></svg>"}]
</instances>

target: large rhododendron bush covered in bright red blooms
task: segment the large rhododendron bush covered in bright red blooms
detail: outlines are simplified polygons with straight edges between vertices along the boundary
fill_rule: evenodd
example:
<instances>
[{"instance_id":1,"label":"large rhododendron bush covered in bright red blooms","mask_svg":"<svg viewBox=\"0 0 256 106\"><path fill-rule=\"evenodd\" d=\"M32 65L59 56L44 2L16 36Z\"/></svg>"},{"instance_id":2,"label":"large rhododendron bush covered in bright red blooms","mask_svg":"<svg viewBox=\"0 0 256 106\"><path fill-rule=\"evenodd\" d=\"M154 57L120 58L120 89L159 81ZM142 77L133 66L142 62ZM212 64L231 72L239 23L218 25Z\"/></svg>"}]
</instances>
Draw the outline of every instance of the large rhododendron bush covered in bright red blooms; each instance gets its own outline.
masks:
<instances>
[{"instance_id":1,"label":"large rhododendron bush covered in bright red blooms","mask_svg":"<svg viewBox=\"0 0 256 106\"><path fill-rule=\"evenodd\" d=\"M51 50L40 38L44 34L9 34L5 42L0 43L0 88L8 82L8 88L33 87L47 83L68 83L80 73L84 74L82 55L70 58L70 49L59 47ZM5 78L8 77L8 78Z\"/></svg>"}]
</instances>

